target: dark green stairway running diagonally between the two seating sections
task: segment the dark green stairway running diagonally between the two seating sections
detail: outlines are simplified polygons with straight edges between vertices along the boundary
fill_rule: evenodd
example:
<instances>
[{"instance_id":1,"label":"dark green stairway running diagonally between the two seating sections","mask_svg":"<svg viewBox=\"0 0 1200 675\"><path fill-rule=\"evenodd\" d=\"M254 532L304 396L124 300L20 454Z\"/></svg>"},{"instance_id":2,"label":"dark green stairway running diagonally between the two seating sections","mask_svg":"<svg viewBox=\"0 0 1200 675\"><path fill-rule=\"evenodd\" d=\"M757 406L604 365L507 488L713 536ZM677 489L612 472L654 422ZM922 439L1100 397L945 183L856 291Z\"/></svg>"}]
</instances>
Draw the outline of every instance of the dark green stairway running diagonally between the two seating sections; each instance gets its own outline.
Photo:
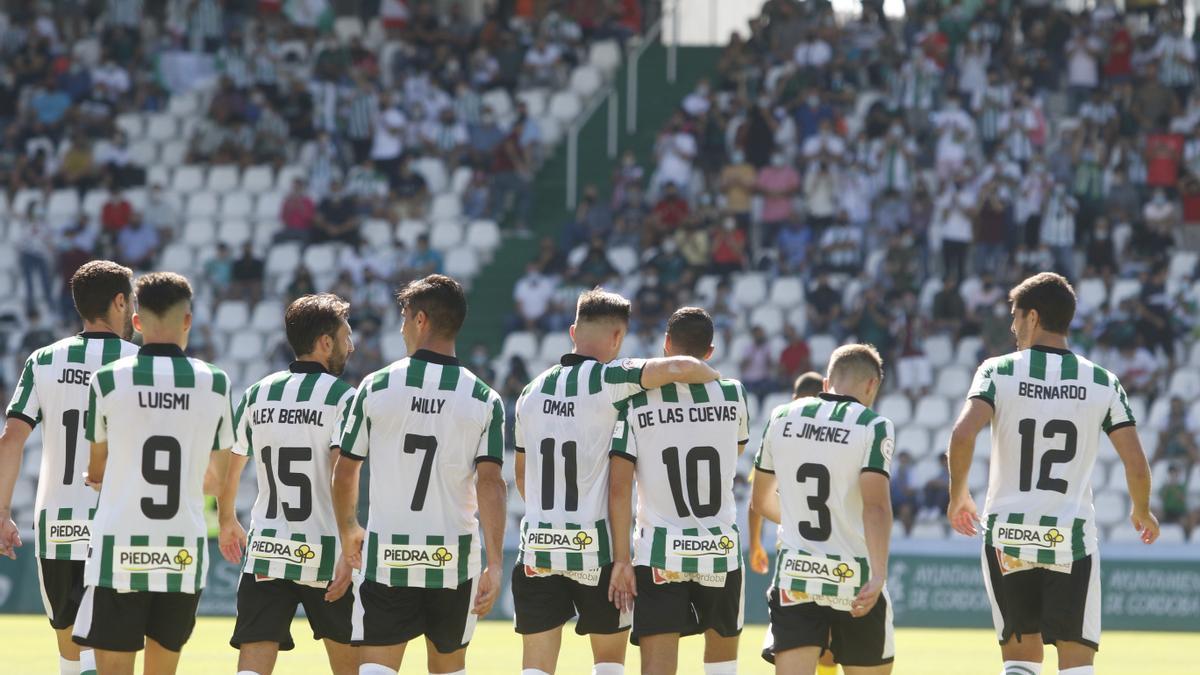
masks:
<instances>
[{"instance_id":1,"label":"dark green stairway running diagonally between the two seating sections","mask_svg":"<svg viewBox=\"0 0 1200 675\"><path fill-rule=\"evenodd\" d=\"M678 108L684 95L695 88L696 80L715 71L720 53L719 48L712 47L680 47L673 84L666 80L667 49L661 42L653 44L642 54L637 80L638 129L637 133L626 135L625 120L619 120L618 157L626 149L632 149L643 167L648 169L654 167L655 137ZM628 64L623 62L614 80L622 98L626 91L628 77ZM622 100L618 115L623 115L624 109L625 101ZM610 160L606 153L607 125L607 106L601 106L580 133L577 185L581 192L584 185L596 184L601 195L611 193L612 171L617 160ZM546 160L534 180L529 219L533 238L506 237L496 251L492 263L473 281L469 295L470 312L460 340L461 347L482 342L491 353L499 353L504 340L504 319L514 311L512 286L524 271L526 263L538 252L538 241L542 237L552 237L557 241L562 235L563 223L570 217L570 210L565 208L565 193L566 143L564 141Z\"/></svg>"}]
</instances>

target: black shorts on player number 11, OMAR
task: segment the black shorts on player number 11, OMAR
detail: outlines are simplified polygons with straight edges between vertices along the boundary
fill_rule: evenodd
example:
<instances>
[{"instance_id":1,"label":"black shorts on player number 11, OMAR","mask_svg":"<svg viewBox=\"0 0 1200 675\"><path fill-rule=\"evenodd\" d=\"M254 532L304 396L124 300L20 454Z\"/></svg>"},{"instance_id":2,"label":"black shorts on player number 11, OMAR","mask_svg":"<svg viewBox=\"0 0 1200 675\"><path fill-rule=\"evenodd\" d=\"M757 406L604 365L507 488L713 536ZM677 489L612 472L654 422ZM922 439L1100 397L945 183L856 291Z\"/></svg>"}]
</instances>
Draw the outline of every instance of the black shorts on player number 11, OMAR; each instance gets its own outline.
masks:
<instances>
[{"instance_id":1,"label":"black shorts on player number 11, OMAR","mask_svg":"<svg viewBox=\"0 0 1200 675\"><path fill-rule=\"evenodd\" d=\"M608 602L608 580L612 565L600 571L595 586L580 584L566 577L526 577L524 565L512 568L512 607L516 632L522 635L544 633L566 623L578 615L575 632L580 635L611 635L629 629L632 613L617 609Z\"/></svg>"}]
</instances>

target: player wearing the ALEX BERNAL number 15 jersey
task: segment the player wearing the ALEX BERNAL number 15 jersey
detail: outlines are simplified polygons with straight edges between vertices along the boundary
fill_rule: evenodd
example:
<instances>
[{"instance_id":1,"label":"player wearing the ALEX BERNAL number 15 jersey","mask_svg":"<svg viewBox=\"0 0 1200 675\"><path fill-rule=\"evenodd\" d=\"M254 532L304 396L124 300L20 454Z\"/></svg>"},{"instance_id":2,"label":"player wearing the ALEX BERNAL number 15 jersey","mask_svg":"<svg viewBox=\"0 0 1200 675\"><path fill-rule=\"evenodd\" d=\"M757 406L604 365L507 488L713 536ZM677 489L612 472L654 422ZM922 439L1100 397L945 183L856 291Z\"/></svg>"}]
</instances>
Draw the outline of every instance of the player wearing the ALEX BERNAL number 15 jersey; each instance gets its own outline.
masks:
<instances>
[{"instance_id":1,"label":"player wearing the ALEX BERNAL number 15 jersey","mask_svg":"<svg viewBox=\"0 0 1200 675\"><path fill-rule=\"evenodd\" d=\"M354 388L337 377L354 351L349 309L329 293L293 301L283 325L295 360L252 384L234 413L238 441L218 513L221 554L242 567L230 639L242 675L271 673L280 650L295 646L289 628L301 604L334 674L359 671L350 646L354 598L346 592L350 569L337 549L330 492L331 448L354 399ZM247 542L234 502L251 460L258 497Z\"/></svg>"}]
</instances>

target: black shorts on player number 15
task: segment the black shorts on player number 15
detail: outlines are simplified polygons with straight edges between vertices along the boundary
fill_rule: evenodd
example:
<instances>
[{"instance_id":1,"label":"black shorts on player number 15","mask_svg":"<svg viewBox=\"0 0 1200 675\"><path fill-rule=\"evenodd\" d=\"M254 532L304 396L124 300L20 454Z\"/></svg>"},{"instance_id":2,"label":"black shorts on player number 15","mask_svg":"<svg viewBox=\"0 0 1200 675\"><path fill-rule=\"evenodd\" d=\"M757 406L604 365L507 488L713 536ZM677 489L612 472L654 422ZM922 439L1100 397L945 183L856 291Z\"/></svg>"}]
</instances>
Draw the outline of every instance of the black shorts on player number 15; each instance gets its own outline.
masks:
<instances>
[{"instance_id":1,"label":"black shorts on player number 15","mask_svg":"<svg viewBox=\"0 0 1200 675\"><path fill-rule=\"evenodd\" d=\"M347 591L336 602L325 602L325 589L305 586L286 579L256 581L253 574L242 574L238 583L238 622L229 645L240 649L247 643L278 643L288 651L292 641L292 620L296 605L304 605L312 628L312 639L330 639L350 644L350 614L354 593Z\"/></svg>"}]
</instances>

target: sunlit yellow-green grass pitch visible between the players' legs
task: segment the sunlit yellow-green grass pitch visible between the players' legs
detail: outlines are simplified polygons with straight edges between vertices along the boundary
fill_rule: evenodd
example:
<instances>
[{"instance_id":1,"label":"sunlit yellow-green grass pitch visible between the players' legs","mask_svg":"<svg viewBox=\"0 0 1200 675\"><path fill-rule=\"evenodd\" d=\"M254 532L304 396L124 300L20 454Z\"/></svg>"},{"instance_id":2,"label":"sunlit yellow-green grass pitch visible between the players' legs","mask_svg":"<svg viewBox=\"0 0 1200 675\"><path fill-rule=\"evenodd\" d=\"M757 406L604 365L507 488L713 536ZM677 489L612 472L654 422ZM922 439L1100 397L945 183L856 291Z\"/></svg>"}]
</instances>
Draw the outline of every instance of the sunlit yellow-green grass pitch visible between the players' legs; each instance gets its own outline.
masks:
<instances>
[{"instance_id":1,"label":"sunlit yellow-green grass pitch visible between the players' legs","mask_svg":"<svg viewBox=\"0 0 1200 675\"><path fill-rule=\"evenodd\" d=\"M236 652L229 647L233 619L203 617L197 622L192 640L184 649L180 674L209 675L233 673ZM742 635L739 673L744 675L772 673L758 657L764 626L748 626ZM292 627L296 649L280 655L275 669L281 675L329 673L324 650L310 638L305 620ZM700 673L702 638L682 643L679 673ZM1196 673L1195 655L1200 653L1196 633L1132 633L1104 634L1097 668L1102 673L1146 675L1184 675ZM58 659L54 637L41 616L0 615L0 653L2 670L11 675L56 673ZM406 655L402 674L425 674L425 647L413 645ZM563 640L558 673L563 675L590 671L587 641L570 632ZM626 671L636 674L637 649L630 647ZM1054 657L1048 658L1046 675L1056 673ZM956 631L934 628L901 628L896 632L896 674L923 675L992 675L1000 669L1000 652L990 631ZM506 622L490 621L479 625L467 653L470 675L514 675L521 671L521 640Z\"/></svg>"}]
</instances>

